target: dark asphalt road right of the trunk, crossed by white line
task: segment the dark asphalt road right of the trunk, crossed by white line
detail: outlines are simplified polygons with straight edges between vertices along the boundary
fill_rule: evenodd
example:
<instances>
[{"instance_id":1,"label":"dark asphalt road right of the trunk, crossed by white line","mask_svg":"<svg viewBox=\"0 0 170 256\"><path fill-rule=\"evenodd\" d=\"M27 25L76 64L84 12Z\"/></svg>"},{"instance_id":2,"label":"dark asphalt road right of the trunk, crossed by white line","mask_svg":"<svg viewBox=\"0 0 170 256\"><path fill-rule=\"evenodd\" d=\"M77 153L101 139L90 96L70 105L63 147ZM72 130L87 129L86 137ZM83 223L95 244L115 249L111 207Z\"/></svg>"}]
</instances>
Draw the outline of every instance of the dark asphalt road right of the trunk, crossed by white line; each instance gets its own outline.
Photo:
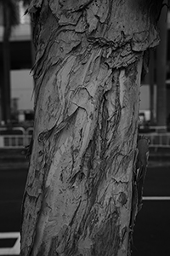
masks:
<instances>
[{"instance_id":1,"label":"dark asphalt road right of the trunk, crossed by white line","mask_svg":"<svg viewBox=\"0 0 170 256\"><path fill-rule=\"evenodd\" d=\"M133 232L132 256L170 255L170 165L148 169L144 198Z\"/></svg>"}]
</instances>

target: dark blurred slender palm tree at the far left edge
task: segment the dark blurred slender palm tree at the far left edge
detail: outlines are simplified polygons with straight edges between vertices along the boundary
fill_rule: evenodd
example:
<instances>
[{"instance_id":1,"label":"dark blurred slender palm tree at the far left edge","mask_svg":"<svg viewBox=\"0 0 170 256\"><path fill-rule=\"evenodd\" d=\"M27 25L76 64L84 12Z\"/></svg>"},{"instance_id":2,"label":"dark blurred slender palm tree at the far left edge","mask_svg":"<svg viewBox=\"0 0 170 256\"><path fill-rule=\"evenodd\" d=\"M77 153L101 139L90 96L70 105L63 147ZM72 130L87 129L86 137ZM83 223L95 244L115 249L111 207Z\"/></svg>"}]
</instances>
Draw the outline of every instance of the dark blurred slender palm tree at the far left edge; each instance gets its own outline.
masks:
<instances>
[{"instance_id":1,"label":"dark blurred slender palm tree at the far left edge","mask_svg":"<svg viewBox=\"0 0 170 256\"><path fill-rule=\"evenodd\" d=\"M3 8L3 84L2 116L5 123L10 120L10 43L12 26L19 24L17 0L0 0Z\"/></svg>"}]
</instances>

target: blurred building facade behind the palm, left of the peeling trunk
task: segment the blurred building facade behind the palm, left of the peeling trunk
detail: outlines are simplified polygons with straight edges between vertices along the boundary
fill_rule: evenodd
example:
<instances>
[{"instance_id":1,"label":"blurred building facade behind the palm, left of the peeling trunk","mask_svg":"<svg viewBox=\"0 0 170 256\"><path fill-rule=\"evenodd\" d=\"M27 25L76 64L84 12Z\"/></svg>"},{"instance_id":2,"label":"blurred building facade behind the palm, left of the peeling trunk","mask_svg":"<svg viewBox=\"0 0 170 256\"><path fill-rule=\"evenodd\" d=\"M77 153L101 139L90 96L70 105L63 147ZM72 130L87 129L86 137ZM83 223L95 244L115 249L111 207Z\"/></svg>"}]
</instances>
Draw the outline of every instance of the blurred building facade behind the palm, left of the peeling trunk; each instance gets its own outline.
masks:
<instances>
[{"instance_id":1,"label":"blurred building facade behind the palm, left of the peeling trunk","mask_svg":"<svg viewBox=\"0 0 170 256\"><path fill-rule=\"evenodd\" d=\"M33 112L33 78L31 74L31 24L19 3L20 24L12 28L10 36L10 88L12 119L26 119ZM3 85L3 19L0 9L0 89ZM2 103L2 98L1 102ZM0 116L1 119L1 116Z\"/></svg>"}]
</instances>

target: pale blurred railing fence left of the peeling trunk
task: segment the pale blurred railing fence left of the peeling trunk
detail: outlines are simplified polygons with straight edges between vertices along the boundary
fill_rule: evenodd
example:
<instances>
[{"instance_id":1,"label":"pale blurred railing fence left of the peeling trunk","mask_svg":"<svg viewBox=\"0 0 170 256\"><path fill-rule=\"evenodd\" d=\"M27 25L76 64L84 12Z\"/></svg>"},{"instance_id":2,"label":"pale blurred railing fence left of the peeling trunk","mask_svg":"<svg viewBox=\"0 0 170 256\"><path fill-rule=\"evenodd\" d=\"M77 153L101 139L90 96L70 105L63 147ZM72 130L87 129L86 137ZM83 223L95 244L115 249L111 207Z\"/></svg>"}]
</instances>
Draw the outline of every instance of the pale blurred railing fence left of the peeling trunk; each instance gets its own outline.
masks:
<instances>
[{"instance_id":1,"label":"pale blurred railing fence left of the peeling trunk","mask_svg":"<svg viewBox=\"0 0 170 256\"><path fill-rule=\"evenodd\" d=\"M29 145L33 128L0 127L0 148L23 148Z\"/></svg>"}]
</instances>

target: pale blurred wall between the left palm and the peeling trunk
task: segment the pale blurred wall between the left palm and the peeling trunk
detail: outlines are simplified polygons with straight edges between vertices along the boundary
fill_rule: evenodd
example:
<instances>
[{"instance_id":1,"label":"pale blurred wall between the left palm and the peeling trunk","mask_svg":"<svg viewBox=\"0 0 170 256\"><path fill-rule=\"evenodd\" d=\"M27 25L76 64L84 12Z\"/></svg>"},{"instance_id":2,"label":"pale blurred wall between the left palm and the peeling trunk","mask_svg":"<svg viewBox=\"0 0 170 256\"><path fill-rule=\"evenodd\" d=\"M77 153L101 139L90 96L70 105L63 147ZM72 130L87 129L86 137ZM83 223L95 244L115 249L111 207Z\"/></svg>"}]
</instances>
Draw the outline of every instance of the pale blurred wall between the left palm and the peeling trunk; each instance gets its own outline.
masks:
<instances>
[{"instance_id":1,"label":"pale blurred wall between the left palm and the peeling trunk","mask_svg":"<svg viewBox=\"0 0 170 256\"><path fill-rule=\"evenodd\" d=\"M13 70L10 79L11 98L18 98L18 109L33 110L33 79L30 70Z\"/></svg>"}]
</instances>

